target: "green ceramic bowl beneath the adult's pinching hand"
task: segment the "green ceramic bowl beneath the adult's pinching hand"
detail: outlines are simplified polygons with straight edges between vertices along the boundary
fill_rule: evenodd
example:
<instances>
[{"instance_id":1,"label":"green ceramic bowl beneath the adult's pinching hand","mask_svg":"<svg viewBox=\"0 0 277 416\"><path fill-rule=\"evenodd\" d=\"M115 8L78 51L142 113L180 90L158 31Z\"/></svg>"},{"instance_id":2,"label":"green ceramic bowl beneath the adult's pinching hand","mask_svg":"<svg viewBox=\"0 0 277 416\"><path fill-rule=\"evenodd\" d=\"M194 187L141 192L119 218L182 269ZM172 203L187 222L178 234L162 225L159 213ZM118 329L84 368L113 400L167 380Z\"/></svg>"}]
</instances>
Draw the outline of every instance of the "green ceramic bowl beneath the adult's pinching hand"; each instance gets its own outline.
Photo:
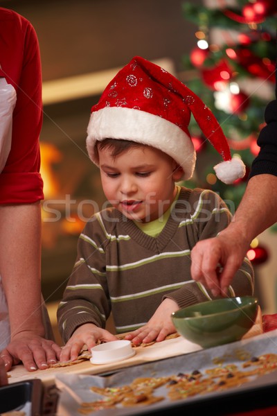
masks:
<instances>
[{"instance_id":1,"label":"green ceramic bowl beneath the adult's pinching hand","mask_svg":"<svg viewBox=\"0 0 277 416\"><path fill-rule=\"evenodd\" d=\"M256 297L224 297L179 309L171 318L181 336L209 348L240 340L257 313Z\"/></svg>"}]
</instances>

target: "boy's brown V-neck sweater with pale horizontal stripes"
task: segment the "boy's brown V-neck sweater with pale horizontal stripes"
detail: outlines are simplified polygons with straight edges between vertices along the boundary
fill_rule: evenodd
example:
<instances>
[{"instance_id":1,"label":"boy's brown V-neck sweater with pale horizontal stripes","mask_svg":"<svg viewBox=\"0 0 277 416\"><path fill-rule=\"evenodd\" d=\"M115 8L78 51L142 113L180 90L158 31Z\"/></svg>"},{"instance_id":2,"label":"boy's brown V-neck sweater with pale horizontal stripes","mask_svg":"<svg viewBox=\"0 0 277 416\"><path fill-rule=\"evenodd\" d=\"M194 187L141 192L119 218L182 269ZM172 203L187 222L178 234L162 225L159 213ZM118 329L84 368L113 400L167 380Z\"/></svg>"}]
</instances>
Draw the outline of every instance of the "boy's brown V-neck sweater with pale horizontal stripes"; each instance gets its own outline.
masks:
<instances>
[{"instance_id":1,"label":"boy's brown V-neck sweater with pale horizontal stripes","mask_svg":"<svg viewBox=\"0 0 277 416\"><path fill-rule=\"evenodd\" d=\"M81 324L105 328L112 312L116 331L148 322L165 297L179 307L213 299L190 276L190 250L216 236L231 214L213 191L181 188L170 218L156 238L117 209L92 216L78 240L77 259L57 310L64 343ZM244 259L230 295L253 295L253 268Z\"/></svg>"}]
</instances>

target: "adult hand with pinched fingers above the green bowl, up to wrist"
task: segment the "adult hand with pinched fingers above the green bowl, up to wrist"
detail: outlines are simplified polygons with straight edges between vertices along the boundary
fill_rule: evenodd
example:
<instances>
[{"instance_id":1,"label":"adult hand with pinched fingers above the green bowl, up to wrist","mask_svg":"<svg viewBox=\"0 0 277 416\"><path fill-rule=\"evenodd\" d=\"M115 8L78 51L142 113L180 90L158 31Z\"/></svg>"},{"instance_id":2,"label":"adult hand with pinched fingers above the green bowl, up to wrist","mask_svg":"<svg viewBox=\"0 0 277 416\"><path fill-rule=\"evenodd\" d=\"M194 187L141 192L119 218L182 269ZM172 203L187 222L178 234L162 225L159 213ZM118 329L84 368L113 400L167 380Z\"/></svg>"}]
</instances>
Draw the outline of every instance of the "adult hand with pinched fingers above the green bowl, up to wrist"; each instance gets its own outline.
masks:
<instances>
[{"instance_id":1,"label":"adult hand with pinched fingers above the green bowl, up to wrist","mask_svg":"<svg viewBox=\"0 0 277 416\"><path fill-rule=\"evenodd\" d=\"M191 276L214 296L226 296L248 248L241 236L225 230L213 239L199 241L191 251Z\"/></svg>"}]
</instances>

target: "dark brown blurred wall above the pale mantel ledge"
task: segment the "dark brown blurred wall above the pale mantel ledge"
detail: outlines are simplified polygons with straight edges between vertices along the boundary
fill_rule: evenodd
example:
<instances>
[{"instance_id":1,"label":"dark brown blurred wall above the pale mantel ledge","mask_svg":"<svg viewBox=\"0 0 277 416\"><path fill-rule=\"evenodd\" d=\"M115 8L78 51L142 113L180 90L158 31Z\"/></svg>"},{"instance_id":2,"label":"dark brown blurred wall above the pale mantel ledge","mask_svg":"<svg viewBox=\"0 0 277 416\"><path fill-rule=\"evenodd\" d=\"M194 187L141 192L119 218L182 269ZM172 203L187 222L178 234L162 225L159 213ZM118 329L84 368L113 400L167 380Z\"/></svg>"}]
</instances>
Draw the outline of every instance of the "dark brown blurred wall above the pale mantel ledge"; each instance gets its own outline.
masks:
<instances>
[{"instance_id":1,"label":"dark brown blurred wall above the pale mantel ledge","mask_svg":"<svg viewBox=\"0 0 277 416\"><path fill-rule=\"evenodd\" d=\"M201 0L194 0L201 3ZM37 31L44 80L120 67L134 56L181 55L195 44L182 0L24 0L0 6L24 15Z\"/></svg>"}]
</instances>

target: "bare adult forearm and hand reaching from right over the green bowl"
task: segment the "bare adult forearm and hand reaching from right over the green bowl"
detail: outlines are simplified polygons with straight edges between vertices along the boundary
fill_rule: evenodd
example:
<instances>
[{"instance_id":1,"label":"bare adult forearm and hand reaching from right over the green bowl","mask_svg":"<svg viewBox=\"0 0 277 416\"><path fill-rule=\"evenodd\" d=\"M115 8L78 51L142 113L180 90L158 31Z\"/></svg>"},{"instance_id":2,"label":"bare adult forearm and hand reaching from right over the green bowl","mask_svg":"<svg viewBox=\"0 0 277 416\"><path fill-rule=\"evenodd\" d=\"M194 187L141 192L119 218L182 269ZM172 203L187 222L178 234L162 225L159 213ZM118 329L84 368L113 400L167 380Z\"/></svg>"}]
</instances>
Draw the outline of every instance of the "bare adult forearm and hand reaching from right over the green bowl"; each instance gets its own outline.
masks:
<instances>
[{"instance_id":1,"label":"bare adult forearm and hand reaching from right over the green bowl","mask_svg":"<svg viewBox=\"0 0 277 416\"><path fill-rule=\"evenodd\" d=\"M199 241L193 248L190 268L193 279L210 288L214 296L226 295L251 241L277 221L276 204L277 177L269 174L251 177L228 227L214 239ZM218 265L222 268L220 274Z\"/></svg>"}]
</instances>

